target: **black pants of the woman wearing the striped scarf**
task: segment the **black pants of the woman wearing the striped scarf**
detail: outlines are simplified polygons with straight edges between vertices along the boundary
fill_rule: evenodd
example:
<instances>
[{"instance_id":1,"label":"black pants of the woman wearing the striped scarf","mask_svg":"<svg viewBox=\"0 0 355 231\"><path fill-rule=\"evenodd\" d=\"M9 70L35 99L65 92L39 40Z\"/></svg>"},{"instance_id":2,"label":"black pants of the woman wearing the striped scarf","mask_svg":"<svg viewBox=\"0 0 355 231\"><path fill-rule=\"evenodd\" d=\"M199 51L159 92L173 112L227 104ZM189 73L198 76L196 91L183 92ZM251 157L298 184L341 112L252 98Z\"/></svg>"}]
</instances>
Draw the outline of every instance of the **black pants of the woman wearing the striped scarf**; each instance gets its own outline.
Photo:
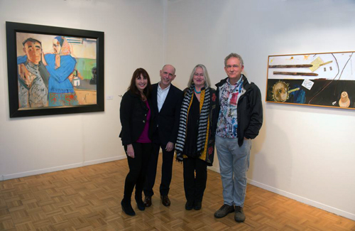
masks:
<instances>
[{"instance_id":1,"label":"black pants of the woman wearing the striped scarf","mask_svg":"<svg viewBox=\"0 0 355 231\"><path fill-rule=\"evenodd\" d=\"M207 162L184 158L184 188L187 201L202 201L207 183ZM195 176L196 172L196 176Z\"/></svg>"}]
</instances>

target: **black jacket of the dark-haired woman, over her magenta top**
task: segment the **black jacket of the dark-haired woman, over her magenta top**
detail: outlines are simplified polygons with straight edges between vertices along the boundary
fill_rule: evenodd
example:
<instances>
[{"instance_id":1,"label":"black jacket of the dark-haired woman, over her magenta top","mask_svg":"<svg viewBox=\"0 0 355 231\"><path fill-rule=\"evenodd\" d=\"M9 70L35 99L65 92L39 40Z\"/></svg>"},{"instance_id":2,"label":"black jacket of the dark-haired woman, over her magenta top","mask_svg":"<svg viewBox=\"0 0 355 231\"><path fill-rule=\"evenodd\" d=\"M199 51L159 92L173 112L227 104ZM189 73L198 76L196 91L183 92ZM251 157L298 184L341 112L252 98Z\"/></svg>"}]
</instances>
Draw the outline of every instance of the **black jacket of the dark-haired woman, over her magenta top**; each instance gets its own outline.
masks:
<instances>
[{"instance_id":1,"label":"black jacket of the dark-haired woman, over her magenta top","mask_svg":"<svg viewBox=\"0 0 355 231\"><path fill-rule=\"evenodd\" d=\"M148 104L151 107L150 100L148 100ZM128 91L122 97L119 114L122 125L119 137L121 137L122 144L132 144L141 136L146 125L148 115L146 102L143 102L138 95Z\"/></svg>"}]
</instances>

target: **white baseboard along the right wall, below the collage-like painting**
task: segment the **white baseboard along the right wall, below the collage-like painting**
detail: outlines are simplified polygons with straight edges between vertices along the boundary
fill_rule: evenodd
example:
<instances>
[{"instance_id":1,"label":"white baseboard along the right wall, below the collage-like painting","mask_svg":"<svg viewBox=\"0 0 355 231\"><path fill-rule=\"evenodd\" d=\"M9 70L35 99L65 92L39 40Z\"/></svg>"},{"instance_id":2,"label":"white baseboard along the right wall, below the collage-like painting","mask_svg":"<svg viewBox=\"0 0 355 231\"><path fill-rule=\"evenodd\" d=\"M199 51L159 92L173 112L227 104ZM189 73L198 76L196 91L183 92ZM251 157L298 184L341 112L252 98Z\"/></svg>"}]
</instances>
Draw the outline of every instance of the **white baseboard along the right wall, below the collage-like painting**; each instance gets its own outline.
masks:
<instances>
[{"instance_id":1,"label":"white baseboard along the right wall, below the collage-like painting","mask_svg":"<svg viewBox=\"0 0 355 231\"><path fill-rule=\"evenodd\" d=\"M248 179L248 183L250 183L253 186L256 186L256 187L263 188L265 190L271 191L273 193L277 193L279 195L283 195L286 198L291 198L291 199L297 200L297 201L299 201L301 203L305 203L307 205L311 205L311 206L313 206L315 208L320 208L320 209L325 210L325 211L327 211L329 213L334 213L336 215L341 215L342 217L346 217L346 218L349 218L351 220L355 220L355 214L348 213L348 212L346 212L344 210L339 210L339 209L333 208L333 207L331 207L329 205L324 205L322 203L319 203L319 202L317 202L315 200L310 200L310 199L307 199L307 198L303 198L300 195L295 195L293 193L288 193L288 192L286 192L284 190L280 190L278 188L273 188L271 186L267 186L267 185L265 185L263 183L260 183L260 182L257 182L257 181L253 181L253 180L250 180L250 179Z\"/></svg>"}]
</instances>

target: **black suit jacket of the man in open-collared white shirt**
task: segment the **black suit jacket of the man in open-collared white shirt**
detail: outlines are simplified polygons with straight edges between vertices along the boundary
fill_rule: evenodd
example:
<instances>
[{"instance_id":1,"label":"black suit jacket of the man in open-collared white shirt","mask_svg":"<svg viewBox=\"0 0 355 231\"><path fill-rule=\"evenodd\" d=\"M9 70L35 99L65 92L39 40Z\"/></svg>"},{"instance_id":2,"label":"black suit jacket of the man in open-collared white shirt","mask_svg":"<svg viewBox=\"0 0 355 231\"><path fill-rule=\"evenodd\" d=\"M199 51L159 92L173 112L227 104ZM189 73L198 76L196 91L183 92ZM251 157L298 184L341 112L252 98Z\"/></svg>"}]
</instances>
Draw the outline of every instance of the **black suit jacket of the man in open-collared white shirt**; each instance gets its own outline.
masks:
<instances>
[{"instance_id":1,"label":"black suit jacket of the man in open-collared white shirt","mask_svg":"<svg viewBox=\"0 0 355 231\"><path fill-rule=\"evenodd\" d=\"M166 145L168 142L176 143L182 104L182 90L170 85L163 107L158 112L158 83L152 85L152 112L151 138L156 144Z\"/></svg>"}]
</instances>

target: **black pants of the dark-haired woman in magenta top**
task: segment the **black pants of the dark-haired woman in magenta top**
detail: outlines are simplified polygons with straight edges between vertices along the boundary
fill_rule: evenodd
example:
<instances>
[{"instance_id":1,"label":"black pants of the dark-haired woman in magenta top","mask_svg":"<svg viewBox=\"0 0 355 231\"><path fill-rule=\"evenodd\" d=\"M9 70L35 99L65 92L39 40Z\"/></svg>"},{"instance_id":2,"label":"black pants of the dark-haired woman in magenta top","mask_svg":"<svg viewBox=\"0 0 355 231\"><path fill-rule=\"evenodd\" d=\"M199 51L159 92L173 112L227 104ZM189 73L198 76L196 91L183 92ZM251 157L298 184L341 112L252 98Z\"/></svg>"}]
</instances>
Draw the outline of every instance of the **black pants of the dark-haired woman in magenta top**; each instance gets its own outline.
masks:
<instances>
[{"instance_id":1,"label":"black pants of the dark-haired woman in magenta top","mask_svg":"<svg viewBox=\"0 0 355 231\"><path fill-rule=\"evenodd\" d=\"M143 183L147 173L147 163L151 157L151 143L136 143L133 144L134 158L127 156L129 162L129 173L124 182L124 199L131 201L131 196L134 186L136 186L136 197L142 197ZM124 146L124 151L127 151L127 146Z\"/></svg>"}]
</instances>

